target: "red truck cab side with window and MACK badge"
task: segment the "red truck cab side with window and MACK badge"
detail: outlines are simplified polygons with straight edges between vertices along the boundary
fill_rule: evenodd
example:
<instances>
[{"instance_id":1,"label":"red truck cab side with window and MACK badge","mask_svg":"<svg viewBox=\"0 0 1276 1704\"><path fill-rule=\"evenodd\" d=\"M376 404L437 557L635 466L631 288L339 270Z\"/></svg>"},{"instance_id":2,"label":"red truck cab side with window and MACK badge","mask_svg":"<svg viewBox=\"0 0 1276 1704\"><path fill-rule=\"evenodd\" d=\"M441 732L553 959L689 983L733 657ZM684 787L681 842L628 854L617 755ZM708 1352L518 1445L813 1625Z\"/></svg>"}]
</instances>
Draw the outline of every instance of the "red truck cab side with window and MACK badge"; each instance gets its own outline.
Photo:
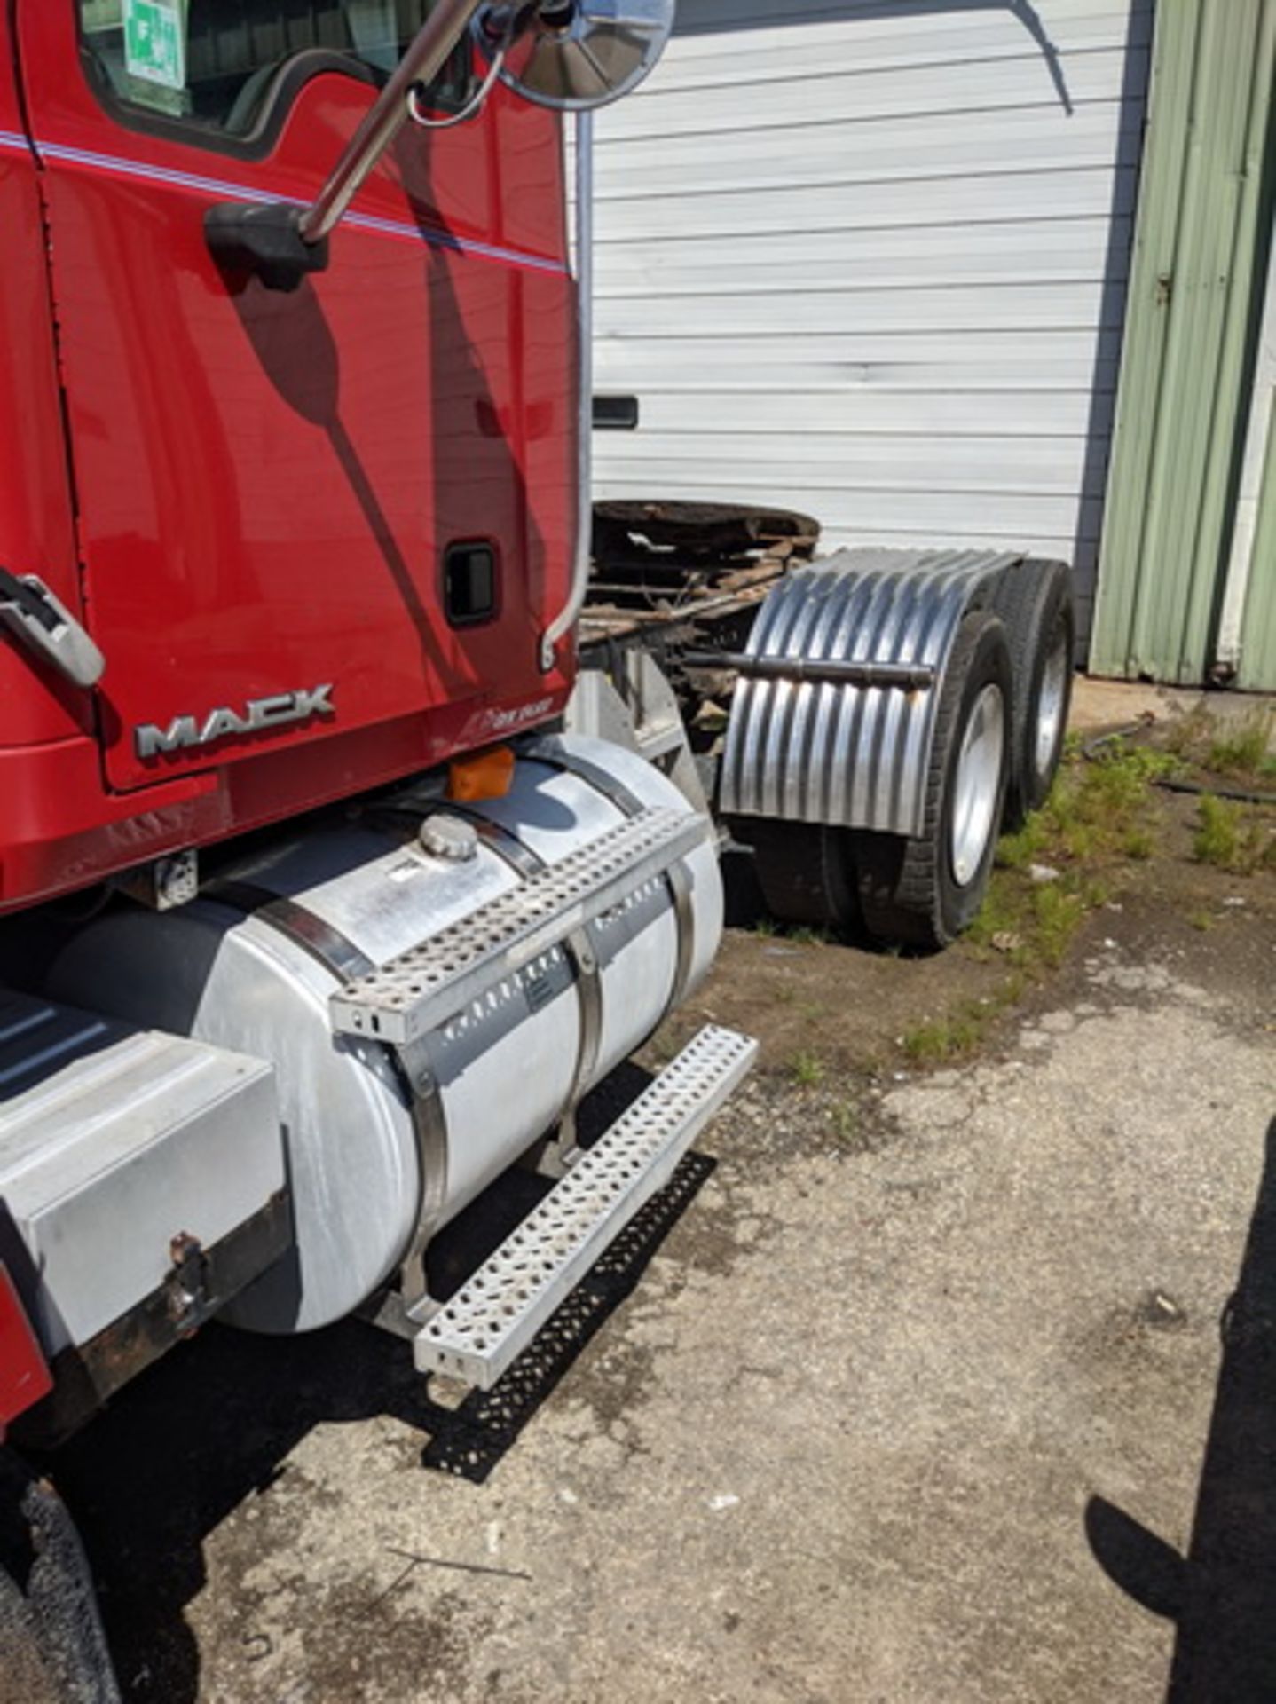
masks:
<instances>
[{"instance_id":1,"label":"red truck cab side with window and MACK badge","mask_svg":"<svg viewBox=\"0 0 1276 1704\"><path fill-rule=\"evenodd\" d=\"M0 632L0 912L436 765L571 685L569 644L538 656L576 525L560 121L496 87L399 138L322 274L228 276L206 211L313 199L428 7L252 10L189 0L179 68L131 39L165 7L0 20L0 567L106 661L83 690ZM463 46L440 112L470 82Z\"/></svg>"}]
</instances>

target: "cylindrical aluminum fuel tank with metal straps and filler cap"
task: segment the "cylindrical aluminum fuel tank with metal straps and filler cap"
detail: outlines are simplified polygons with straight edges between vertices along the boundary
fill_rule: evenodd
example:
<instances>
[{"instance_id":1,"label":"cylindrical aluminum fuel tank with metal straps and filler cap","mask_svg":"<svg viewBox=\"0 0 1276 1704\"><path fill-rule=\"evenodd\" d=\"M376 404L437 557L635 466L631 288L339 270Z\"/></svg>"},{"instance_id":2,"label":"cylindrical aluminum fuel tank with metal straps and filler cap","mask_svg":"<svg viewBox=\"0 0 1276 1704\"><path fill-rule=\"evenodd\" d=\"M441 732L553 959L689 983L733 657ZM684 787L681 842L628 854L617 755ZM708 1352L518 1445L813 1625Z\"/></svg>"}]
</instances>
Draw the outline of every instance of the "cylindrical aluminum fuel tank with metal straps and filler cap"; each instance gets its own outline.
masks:
<instances>
[{"instance_id":1,"label":"cylindrical aluminum fuel tank with metal straps and filler cap","mask_svg":"<svg viewBox=\"0 0 1276 1704\"><path fill-rule=\"evenodd\" d=\"M722 891L705 818L678 883L637 881L589 924L588 990L572 954L550 946L424 1038L436 1176L422 1177L421 1106L402 1060L334 1034L332 993L477 915L635 806L693 815L670 780L618 746L569 736L537 751L518 760L503 799L451 808L407 789L344 825L273 840L179 910L118 907L58 953L51 995L274 1065L296 1242L227 1310L232 1322L290 1333L349 1314L394 1273L426 1195L436 1223L451 1218L707 971ZM472 855L422 849L414 828L431 811L477 830Z\"/></svg>"}]
</instances>

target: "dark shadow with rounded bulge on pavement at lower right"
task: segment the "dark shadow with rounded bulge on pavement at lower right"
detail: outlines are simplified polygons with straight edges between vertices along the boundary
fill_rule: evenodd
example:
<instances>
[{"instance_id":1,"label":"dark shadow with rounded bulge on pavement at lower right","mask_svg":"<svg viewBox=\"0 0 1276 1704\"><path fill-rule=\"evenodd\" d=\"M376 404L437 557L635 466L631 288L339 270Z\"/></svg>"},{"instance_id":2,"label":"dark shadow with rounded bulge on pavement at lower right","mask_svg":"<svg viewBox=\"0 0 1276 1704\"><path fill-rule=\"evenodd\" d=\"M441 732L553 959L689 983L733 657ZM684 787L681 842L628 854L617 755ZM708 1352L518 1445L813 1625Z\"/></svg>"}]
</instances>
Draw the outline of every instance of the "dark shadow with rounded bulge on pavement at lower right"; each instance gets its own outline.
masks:
<instances>
[{"instance_id":1,"label":"dark shadow with rounded bulge on pavement at lower right","mask_svg":"<svg viewBox=\"0 0 1276 1704\"><path fill-rule=\"evenodd\" d=\"M1187 1556L1102 1498L1085 1510L1107 1576L1177 1622L1167 1704L1276 1701L1276 1120L1221 1339Z\"/></svg>"}]
</instances>

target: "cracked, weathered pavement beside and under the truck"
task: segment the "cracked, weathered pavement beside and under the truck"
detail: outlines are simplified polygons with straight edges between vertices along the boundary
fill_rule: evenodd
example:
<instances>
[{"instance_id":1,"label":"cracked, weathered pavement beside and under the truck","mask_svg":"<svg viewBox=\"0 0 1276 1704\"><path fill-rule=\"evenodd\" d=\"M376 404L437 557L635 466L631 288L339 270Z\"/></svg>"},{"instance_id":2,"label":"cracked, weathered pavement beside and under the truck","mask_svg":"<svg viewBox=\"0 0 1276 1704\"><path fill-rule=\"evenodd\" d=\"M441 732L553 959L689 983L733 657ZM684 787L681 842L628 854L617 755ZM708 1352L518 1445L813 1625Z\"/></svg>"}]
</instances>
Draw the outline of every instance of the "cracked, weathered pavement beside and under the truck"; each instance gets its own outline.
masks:
<instances>
[{"instance_id":1,"label":"cracked, weathered pavement beside and under the truck","mask_svg":"<svg viewBox=\"0 0 1276 1704\"><path fill-rule=\"evenodd\" d=\"M126 1697L1276 1697L1249 891L1232 951L1102 915L969 1067L758 1075L494 1399L359 1326L170 1356L65 1465Z\"/></svg>"}]
</instances>

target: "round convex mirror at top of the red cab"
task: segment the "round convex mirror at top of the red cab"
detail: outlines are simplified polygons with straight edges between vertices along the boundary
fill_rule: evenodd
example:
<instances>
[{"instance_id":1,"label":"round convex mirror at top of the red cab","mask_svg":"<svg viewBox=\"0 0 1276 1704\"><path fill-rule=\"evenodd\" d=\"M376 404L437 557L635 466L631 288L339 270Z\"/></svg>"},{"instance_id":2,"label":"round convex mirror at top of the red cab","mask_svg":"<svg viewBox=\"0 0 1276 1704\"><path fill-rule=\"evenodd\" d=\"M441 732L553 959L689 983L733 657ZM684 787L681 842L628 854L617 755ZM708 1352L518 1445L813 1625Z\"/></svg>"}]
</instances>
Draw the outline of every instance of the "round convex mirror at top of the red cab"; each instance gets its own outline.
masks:
<instances>
[{"instance_id":1,"label":"round convex mirror at top of the red cab","mask_svg":"<svg viewBox=\"0 0 1276 1704\"><path fill-rule=\"evenodd\" d=\"M637 89L673 31L675 0L542 0L487 7L475 22L482 51L504 46L501 78L537 106L586 112Z\"/></svg>"}]
</instances>

